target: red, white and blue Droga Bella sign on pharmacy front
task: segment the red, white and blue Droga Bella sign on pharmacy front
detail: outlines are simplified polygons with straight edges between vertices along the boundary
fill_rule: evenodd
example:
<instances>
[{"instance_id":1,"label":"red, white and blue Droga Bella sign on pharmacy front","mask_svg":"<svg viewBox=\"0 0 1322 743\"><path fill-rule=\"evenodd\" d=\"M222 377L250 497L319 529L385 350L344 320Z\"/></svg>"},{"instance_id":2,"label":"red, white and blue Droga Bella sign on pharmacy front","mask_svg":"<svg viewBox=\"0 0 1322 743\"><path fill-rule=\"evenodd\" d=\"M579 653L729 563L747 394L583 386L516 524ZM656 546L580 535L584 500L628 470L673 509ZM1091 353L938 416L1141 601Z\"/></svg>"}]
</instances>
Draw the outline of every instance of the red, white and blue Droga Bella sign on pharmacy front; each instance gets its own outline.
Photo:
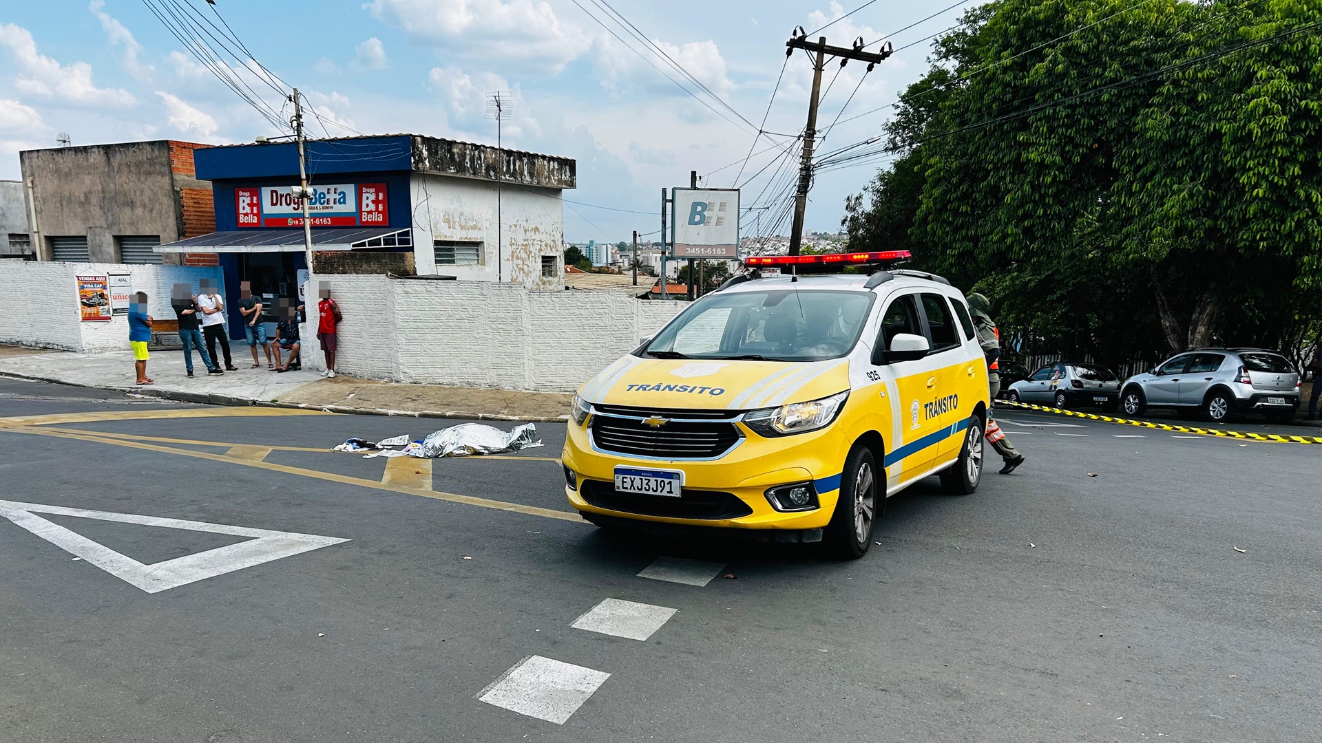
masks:
<instances>
[{"instance_id":1,"label":"red, white and blue Droga Bella sign on pharmacy front","mask_svg":"<svg viewBox=\"0 0 1322 743\"><path fill-rule=\"evenodd\" d=\"M312 185L308 218L313 227L383 227L386 184ZM234 189L234 214L239 227L301 227L303 202L292 186Z\"/></svg>"}]
</instances>

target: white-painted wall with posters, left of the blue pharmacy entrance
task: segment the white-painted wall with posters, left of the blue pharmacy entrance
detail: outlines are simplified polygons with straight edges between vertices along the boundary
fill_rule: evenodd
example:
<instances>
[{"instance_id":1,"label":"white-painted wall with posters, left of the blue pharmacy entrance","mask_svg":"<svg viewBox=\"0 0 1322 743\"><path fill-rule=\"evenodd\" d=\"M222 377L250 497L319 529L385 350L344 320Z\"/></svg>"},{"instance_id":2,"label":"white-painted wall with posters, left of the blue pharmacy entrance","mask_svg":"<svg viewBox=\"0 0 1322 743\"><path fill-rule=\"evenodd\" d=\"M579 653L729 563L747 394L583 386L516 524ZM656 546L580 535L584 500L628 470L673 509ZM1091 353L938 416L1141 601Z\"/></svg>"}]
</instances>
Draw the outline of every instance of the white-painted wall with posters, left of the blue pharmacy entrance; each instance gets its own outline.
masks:
<instances>
[{"instance_id":1,"label":"white-painted wall with posters, left of the blue pharmacy entrance","mask_svg":"<svg viewBox=\"0 0 1322 743\"><path fill-rule=\"evenodd\" d=\"M221 284L217 267L123 263L38 263L0 260L0 342L57 348L83 353L128 349L128 316L83 323L78 309L78 276L127 272L132 291L147 292L148 315L175 320L169 288L210 278Z\"/></svg>"}]
</instances>

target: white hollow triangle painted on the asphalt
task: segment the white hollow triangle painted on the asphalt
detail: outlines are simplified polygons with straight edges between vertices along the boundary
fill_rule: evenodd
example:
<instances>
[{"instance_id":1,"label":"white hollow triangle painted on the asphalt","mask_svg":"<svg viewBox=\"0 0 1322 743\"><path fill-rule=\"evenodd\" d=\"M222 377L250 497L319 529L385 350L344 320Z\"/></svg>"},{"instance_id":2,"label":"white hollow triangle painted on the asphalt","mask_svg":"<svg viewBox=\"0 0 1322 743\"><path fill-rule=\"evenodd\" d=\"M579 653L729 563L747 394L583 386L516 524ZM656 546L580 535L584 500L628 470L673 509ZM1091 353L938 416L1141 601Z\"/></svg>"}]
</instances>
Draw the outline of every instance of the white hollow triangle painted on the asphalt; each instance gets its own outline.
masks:
<instances>
[{"instance_id":1,"label":"white hollow triangle painted on the asphalt","mask_svg":"<svg viewBox=\"0 0 1322 743\"><path fill-rule=\"evenodd\" d=\"M212 534L230 534L235 537L251 537L246 542L217 547L202 553L194 553L175 559L167 559L152 565L143 565L134 558L126 557L110 547L100 545L70 531L58 524L37 516L50 513L57 516L77 516L81 518L97 518L100 521L119 521L123 524L141 524L144 526L165 526L169 529L186 529L190 531L209 531ZM319 547L338 545L349 539L338 537L317 537L315 534L299 534L295 531L271 531L268 529L249 529L246 526L226 526L223 524L206 524L202 521L182 521L178 518L157 518L153 516L137 516L132 513L111 513L104 510L85 510L81 508L63 508L54 505L25 504L15 501L0 501L0 516L32 531L37 537L56 545L57 547L81 557L106 572L119 578L148 594L159 594L168 588L176 588L188 583L194 583L206 578L214 578L226 572L234 572L263 562L292 557Z\"/></svg>"}]
</instances>

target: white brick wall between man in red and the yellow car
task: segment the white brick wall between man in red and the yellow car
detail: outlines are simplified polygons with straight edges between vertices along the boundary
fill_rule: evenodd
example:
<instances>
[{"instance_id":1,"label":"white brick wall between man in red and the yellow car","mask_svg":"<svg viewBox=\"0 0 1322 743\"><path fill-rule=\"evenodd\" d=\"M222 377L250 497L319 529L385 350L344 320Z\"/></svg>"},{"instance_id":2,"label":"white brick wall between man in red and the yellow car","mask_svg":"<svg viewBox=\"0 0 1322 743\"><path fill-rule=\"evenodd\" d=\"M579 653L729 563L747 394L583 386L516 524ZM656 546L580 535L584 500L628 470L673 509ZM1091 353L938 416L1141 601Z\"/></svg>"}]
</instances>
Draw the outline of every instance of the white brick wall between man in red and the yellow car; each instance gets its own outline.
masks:
<instances>
[{"instance_id":1,"label":"white brick wall between man in red and the yellow car","mask_svg":"<svg viewBox=\"0 0 1322 743\"><path fill-rule=\"evenodd\" d=\"M336 370L391 382L574 391L687 307L494 282L317 279L344 313ZM324 369L308 295L304 366Z\"/></svg>"}]
</instances>

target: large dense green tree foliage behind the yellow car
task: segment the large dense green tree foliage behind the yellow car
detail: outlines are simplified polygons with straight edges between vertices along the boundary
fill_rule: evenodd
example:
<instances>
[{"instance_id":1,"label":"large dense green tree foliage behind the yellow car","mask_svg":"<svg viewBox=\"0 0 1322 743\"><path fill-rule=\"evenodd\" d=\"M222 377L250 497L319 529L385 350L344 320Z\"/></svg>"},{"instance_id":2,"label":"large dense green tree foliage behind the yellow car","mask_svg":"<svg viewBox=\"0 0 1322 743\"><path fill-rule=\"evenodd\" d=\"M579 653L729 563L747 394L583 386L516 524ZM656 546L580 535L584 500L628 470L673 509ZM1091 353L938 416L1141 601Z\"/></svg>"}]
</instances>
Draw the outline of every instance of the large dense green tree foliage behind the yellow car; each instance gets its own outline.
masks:
<instances>
[{"instance_id":1,"label":"large dense green tree foliage behind the yellow car","mask_svg":"<svg viewBox=\"0 0 1322 743\"><path fill-rule=\"evenodd\" d=\"M907 231L1067 353L1292 342L1322 304L1319 20L1322 0L970 11L886 128L902 156L846 202L850 246Z\"/></svg>"}]
</instances>

